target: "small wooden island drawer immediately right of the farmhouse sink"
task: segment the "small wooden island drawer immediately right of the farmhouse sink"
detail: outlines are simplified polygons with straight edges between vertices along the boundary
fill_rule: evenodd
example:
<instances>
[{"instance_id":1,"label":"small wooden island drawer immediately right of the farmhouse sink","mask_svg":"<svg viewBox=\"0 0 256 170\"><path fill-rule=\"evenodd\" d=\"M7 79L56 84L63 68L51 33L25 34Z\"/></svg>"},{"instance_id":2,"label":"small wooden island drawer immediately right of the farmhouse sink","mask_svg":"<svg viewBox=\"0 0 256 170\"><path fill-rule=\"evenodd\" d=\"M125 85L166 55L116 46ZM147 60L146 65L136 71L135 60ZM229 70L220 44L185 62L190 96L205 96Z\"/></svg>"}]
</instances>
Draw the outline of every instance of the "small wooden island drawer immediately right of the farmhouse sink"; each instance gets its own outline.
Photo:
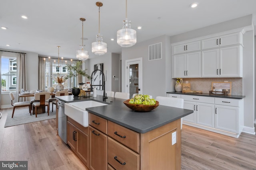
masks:
<instances>
[{"instance_id":1,"label":"small wooden island drawer immediately right of the farmhouse sink","mask_svg":"<svg viewBox=\"0 0 256 170\"><path fill-rule=\"evenodd\" d=\"M108 134L108 120L89 113L89 125L98 129L102 133Z\"/></svg>"}]
</instances>

